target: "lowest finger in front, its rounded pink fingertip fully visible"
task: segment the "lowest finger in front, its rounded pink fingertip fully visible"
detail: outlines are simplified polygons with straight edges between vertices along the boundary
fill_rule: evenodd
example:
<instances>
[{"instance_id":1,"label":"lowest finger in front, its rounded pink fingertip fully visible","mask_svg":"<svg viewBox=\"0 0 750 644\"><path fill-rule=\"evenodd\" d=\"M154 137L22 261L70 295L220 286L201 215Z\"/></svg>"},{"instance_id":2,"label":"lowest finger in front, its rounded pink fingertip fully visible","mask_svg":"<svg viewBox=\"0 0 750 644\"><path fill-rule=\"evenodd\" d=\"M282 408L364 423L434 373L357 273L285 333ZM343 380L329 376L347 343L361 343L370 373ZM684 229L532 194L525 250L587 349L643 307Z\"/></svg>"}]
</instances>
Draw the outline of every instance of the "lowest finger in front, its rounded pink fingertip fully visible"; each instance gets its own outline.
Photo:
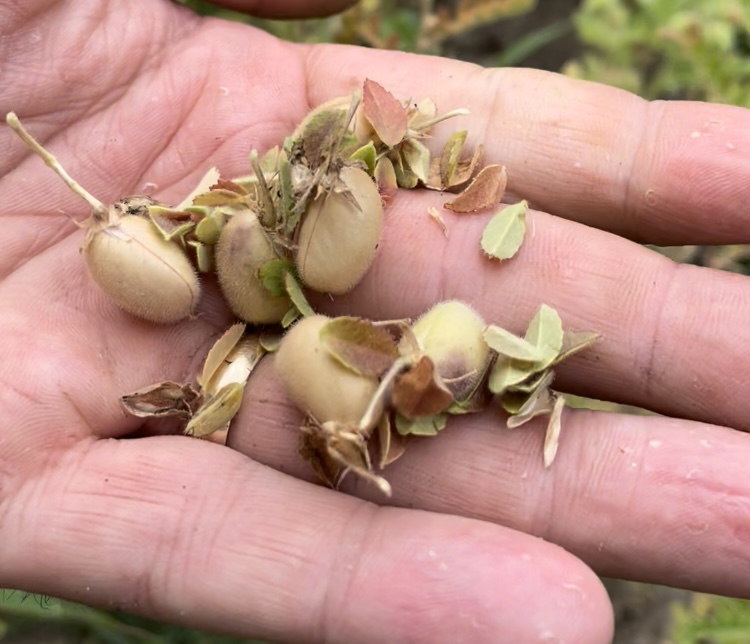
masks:
<instances>
[{"instance_id":1,"label":"lowest finger in front, its rounded pink fingertip fully visible","mask_svg":"<svg viewBox=\"0 0 750 644\"><path fill-rule=\"evenodd\" d=\"M183 438L88 442L2 506L5 587L245 637L607 642L606 594L563 550L377 509Z\"/></svg>"}]
</instances>

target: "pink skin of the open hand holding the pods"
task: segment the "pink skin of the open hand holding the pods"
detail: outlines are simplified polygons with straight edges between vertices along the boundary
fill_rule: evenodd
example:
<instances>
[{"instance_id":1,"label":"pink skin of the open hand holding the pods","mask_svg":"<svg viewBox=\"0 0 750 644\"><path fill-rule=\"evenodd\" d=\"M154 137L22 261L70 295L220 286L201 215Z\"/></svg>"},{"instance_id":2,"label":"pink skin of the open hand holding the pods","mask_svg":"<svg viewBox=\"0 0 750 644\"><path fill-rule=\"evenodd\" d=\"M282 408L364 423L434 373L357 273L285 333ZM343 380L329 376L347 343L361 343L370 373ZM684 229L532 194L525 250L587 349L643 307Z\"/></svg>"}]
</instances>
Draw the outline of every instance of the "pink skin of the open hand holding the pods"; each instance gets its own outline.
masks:
<instances>
[{"instance_id":1,"label":"pink skin of the open hand holding the pods","mask_svg":"<svg viewBox=\"0 0 750 644\"><path fill-rule=\"evenodd\" d=\"M343 4L233 2L287 16ZM234 450L118 440L143 430L119 396L192 378L231 318L210 285L178 325L116 309L65 217L86 205L3 126L0 587L321 642L608 642L594 571L750 596L750 283L640 245L750 241L750 112L292 45L161 0L6 0L0 61L2 113L105 202L176 202L212 164L244 174L250 148L365 78L469 108L430 145L465 128L507 166L509 190L533 206L519 255L482 256L487 215L445 213L446 240L427 215L443 197L399 194L375 264L329 312L415 316L460 298L521 331L544 302L602 335L558 388L661 414L568 410L549 470L541 426L459 418L388 470L388 504L354 480L350 494L310 483L270 361Z\"/></svg>"}]
</instances>

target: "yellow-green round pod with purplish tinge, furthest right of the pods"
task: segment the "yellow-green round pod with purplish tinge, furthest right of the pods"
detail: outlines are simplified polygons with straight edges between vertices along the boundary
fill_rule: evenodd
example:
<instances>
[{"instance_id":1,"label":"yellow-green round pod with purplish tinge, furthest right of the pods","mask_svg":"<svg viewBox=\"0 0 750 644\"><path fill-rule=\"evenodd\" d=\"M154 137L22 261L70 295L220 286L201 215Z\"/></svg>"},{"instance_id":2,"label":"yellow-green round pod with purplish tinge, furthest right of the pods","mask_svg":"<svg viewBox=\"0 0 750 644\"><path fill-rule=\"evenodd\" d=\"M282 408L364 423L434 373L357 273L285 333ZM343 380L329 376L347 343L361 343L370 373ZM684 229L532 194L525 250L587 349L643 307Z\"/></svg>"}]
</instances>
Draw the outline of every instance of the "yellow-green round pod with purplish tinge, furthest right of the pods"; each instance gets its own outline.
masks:
<instances>
[{"instance_id":1,"label":"yellow-green round pod with purplish tinge, furthest right of the pods","mask_svg":"<svg viewBox=\"0 0 750 644\"><path fill-rule=\"evenodd\" d=\"M490 359L484 329L481 316L456 300L436 304L412 326L420 348L456 402L466 400L484 377Z\"/></svg>"}]
</instances>

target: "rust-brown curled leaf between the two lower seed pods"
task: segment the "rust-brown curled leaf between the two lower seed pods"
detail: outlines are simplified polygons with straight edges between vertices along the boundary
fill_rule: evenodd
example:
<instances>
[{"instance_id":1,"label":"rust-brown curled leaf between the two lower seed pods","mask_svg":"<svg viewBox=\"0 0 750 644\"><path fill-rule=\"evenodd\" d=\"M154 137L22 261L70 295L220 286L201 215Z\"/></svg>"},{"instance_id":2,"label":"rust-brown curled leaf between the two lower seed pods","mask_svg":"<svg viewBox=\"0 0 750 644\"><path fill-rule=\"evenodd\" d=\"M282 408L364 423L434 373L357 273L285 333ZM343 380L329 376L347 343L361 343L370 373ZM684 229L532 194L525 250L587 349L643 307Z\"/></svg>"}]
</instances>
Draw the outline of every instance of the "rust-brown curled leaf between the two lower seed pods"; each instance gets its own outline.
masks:
<instances>
[{"instance_id":1,"label":"rust-brown curled leaf between the two lower seed pods","mask_svg":"<svg viewBox=\"0 0 750 644\"><path fill-rule=\"evenodd\" d=\"M435 364L427 356L396 378L391 394L394 408L407 418L434 416L445 411L453 395L440 382Z\"/></svg>"}]
</instances>

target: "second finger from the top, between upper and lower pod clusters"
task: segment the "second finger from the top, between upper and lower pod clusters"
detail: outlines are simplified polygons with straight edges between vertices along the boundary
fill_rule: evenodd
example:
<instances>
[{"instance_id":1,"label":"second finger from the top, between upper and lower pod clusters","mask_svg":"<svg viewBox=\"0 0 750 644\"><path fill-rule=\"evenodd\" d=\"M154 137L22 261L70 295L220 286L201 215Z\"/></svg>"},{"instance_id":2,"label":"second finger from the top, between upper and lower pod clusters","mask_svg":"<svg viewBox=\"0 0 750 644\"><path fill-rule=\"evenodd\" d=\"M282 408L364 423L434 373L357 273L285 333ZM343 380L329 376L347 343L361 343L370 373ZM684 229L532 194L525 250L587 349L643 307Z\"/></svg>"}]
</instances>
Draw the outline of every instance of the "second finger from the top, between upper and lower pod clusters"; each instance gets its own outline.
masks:
<instances>
[{"instance_id":1,"label":"second finger from the top, between upper and lower pod clusters","mask_svg":"<svg viewBox=\"0 0 750 644\"><path fill-rule=\"evenodd\" d=\"M750 282L683 266L621 237L530 212L516 257L485 257L486 216L427 214L445 197L393 199L378 256L333 314L417 317L460 299L488 324L523 334L542 303L564 328L600 334L556 369L555 387L659 413L750 430Z\"/></svg>"}]
</instances>

